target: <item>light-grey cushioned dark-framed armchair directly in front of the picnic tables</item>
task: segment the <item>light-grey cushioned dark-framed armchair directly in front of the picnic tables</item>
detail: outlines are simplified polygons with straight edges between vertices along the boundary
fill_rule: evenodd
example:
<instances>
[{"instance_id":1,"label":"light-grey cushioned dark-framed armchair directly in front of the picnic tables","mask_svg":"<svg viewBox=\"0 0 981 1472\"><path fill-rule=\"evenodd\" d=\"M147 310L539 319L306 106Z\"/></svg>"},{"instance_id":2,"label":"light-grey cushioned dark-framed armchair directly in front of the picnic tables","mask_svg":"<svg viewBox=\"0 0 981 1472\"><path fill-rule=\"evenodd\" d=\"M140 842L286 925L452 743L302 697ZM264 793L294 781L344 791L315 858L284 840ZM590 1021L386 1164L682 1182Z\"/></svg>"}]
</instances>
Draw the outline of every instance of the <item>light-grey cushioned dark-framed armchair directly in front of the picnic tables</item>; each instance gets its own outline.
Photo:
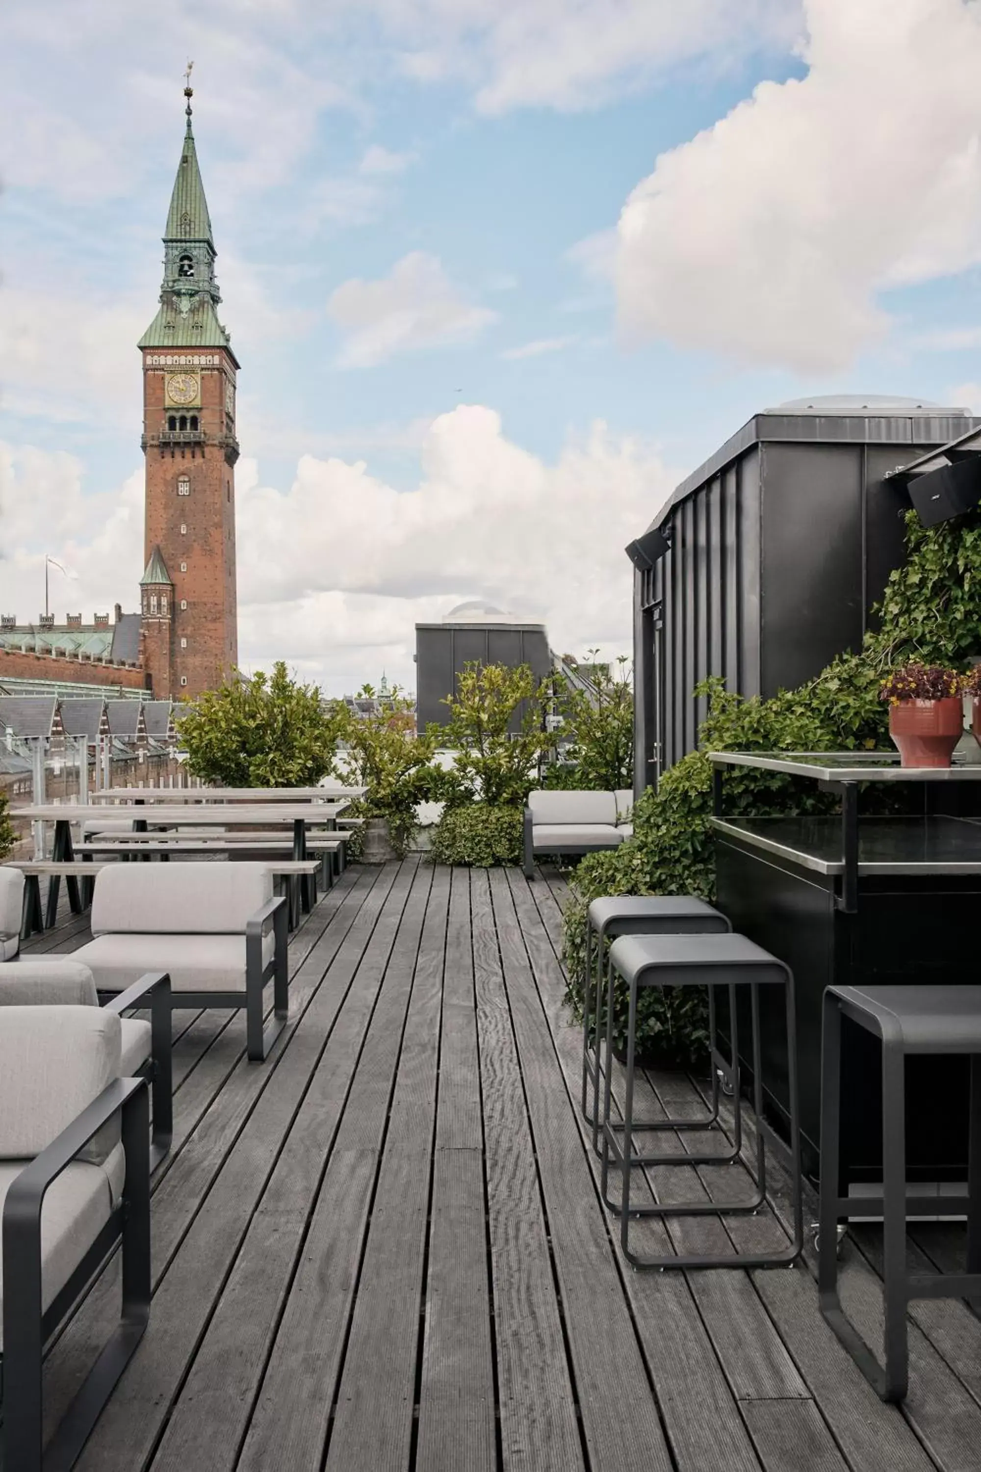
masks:
<instances>
[{"instance_id":1,"label":"light-grey cushioned dark-framed armchair directly in front of the picnic tables","mask_svg":"<svg viewBox=\"0 0 981 1472\"><path fill-rule=\"evenodd\" d=\"M285 1025L287 901L274 898L265 864L107 864L96 879L91 932L72 960L100 992L166 972L172 1008L244 1007L256 1061ZM269 982L274 1019L263 1030Z\"/></svg>"}]
</instances>

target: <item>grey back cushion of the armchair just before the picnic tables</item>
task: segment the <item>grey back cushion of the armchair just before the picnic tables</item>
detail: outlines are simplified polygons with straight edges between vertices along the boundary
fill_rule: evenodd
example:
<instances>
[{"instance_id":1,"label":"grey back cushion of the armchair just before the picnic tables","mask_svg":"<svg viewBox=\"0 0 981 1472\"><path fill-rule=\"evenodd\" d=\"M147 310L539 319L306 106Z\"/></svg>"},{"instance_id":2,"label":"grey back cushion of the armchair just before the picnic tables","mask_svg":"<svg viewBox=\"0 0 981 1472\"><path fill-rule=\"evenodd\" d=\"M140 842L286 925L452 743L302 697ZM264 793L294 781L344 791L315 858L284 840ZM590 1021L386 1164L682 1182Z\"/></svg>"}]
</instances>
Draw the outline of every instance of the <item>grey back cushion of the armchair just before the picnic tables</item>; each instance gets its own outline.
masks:
<instances>
[{"instance_id":1,"label":"grey back cushion of the armchair just before the picnic tables","mask_svg":"<svg viewBox=\"0 0 981 1472\"><path fill-rule=\"evenodd\" d=\"M96 879L93 935L244 935L272 899L265 864L107 864Z\"/></svg>"}]
</instances>

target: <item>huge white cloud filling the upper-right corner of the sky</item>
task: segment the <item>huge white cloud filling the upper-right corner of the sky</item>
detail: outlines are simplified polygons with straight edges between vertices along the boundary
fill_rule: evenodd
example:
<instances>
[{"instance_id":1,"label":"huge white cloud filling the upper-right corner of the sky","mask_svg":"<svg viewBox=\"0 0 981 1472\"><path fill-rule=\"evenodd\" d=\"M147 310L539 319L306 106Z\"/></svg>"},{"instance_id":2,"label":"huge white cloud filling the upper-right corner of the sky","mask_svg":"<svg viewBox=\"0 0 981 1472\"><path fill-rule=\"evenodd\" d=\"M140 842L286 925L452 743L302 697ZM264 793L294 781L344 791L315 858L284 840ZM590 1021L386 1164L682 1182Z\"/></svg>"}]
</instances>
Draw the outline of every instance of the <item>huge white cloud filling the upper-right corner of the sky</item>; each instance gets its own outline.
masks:
<instances>
[{"instance_id":1,"label":"huge white cloud filling the upper-right corner of the sky","mask_svg":"<svg viewBox=\"0 0 981 1472\"><path fill-rule=\"evenodd\" d=\"M619 221L628 337L796 371L888 328L878 293L981 261L981 10L805 0L803 79L663 153Z\"/></svg>"}]
</instances>

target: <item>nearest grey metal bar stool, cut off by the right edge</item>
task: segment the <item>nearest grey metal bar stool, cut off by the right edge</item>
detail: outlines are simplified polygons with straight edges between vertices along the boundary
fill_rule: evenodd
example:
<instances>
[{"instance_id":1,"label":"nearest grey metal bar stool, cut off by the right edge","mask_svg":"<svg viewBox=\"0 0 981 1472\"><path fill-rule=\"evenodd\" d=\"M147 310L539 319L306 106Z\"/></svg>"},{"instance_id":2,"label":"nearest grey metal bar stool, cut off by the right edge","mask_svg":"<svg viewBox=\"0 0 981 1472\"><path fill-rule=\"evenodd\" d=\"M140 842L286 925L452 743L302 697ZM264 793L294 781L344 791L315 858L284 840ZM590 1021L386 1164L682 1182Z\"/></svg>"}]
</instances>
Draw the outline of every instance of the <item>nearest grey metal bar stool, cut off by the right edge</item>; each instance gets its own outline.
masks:
<instances>
[{"instance_id":1,"label":"nearest grey metal bar stool, cut off by the right edge","mask_svg":"<svg viewBox=\"0 0 981 1472\"><path fill-rule=\"evenodd\" d=\"M837 1226L856 1210L841 1197L841 1017L882 1045L882 1197L862 1197L860 1214L882 1213L885 1366L849 1322L838 1297ZM963 1197L906 1195L906 1057L971 1057L968 1150L968 1251L963 1273L910 1273L906 1214L963 1213ZM846 1120L847 1125L847 1120ZM821 1313L882 1400L897 1401L909 1384L906 1307L912 1298L981 1298L981 986L830 986L824 994L821 1051Z\"/></svg>"}]
</instances>

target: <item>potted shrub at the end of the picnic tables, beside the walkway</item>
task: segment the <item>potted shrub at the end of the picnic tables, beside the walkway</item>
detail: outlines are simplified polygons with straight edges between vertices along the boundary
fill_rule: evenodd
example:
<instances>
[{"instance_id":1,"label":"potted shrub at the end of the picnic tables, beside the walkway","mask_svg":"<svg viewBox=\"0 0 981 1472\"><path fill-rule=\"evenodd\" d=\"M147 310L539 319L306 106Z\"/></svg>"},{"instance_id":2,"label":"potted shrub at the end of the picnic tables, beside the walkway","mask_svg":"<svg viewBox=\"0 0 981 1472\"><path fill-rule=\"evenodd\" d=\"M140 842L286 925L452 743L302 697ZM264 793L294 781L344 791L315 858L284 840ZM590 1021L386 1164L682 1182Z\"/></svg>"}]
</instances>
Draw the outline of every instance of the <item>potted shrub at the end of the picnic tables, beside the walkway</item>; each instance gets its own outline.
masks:
<instances>
[{"instance_id":1,"label":"potted shrub at the end of the picnic tables, beside the walkway","mask_svg":"<svg viewBox=\"0 0 981 1472\"><path fill-rule=\"evenodd\" d=\"M416 805L429 795L435 739L416 736L415 707L399 686L377 695L365 684L352 707L338 710L346 779L366 788L352 813L365 818L360 858L384 864L402 858L416 824Z\"/></svg>"}]
</instances>

